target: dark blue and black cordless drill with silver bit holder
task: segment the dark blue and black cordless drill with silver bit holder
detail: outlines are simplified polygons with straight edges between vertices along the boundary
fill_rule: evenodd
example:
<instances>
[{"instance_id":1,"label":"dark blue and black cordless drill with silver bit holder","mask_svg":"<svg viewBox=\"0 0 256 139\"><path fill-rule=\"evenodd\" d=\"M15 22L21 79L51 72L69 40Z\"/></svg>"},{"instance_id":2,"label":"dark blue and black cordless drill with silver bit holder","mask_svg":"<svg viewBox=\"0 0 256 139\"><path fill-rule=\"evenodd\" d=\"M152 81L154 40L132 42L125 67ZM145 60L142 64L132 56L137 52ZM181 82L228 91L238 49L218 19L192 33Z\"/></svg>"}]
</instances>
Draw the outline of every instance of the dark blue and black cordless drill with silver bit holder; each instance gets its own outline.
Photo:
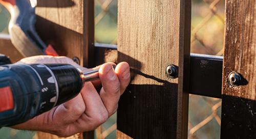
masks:
<instances>
[{"instance_id":1,"label":"dark blue and black cordless drill with silver bit holder","mask_svg":"<svg viewBox=\"0 0 256 139\"><path fill-rule=\"evenodd\" d=\"M47 112L81 91L98 70L82 73L68 64L0 66L0 127L12 126Z\"/></svg>"}]
</instances>

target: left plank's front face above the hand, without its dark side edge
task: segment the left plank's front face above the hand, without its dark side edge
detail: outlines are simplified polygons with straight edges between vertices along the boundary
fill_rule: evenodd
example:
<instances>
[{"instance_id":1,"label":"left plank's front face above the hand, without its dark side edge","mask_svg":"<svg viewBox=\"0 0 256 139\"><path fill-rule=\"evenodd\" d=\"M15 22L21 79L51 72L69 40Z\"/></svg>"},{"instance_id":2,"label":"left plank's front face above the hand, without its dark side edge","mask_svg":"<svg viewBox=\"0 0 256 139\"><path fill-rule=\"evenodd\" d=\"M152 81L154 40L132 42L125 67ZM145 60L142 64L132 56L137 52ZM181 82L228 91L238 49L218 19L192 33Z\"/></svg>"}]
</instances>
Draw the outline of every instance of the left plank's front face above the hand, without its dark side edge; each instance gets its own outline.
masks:
<instances>
[{"instance_id":1,"label":"left plank's front face above the hand, without its dark side edge","mask_svg":"<svg viewBox=\"0 0 256 139\"><path fill-rule=\"evenodd\" d=\"M83 63L84 1L37 1L36 30L60 55L77 57Z\"/></svg>"}]
</instances>

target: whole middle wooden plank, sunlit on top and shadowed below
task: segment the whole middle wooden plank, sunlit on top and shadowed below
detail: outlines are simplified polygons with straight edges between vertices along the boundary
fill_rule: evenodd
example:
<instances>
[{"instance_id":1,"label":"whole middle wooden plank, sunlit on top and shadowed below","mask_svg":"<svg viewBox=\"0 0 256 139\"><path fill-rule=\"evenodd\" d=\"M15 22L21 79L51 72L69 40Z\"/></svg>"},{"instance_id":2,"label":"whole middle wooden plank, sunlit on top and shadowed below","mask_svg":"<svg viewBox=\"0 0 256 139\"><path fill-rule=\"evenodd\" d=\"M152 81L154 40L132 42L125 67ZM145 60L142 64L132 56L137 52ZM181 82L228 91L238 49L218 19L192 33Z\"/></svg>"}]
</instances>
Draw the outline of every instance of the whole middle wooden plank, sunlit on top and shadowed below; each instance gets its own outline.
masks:
<instances>
[{"instance_id":1,"label":"whole middle wooden plank, sunlit on top and shadowed below","mask_svg":"<svg viewBox=\"0 0 256 139\"><path fill-rule=\"evenodd\" d=\"M133 75L119 102L118 138L187 138L190 7L184 0L118 2L118 62ZM169 64L179 78L167 78Z\"/></svg>"}]
</instances>

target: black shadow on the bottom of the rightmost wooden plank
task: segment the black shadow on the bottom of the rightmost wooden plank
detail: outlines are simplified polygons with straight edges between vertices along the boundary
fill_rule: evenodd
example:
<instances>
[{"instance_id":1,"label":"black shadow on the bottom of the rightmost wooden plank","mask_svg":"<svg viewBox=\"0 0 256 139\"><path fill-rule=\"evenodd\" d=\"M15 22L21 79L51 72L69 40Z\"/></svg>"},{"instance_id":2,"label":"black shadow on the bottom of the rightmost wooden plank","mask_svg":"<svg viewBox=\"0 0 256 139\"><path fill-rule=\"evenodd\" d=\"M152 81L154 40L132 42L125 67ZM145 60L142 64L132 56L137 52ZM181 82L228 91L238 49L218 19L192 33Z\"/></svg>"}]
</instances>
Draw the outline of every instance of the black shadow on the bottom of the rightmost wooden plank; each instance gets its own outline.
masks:
<instances>
[{"instance_id":1,"label":"black shadow on the bottom of the rightmost wooden plank","mask_svg":"<svg viewBox=\"0 0 256 139\"><path fill-rule=\"evenodd\" d=\"M256 138L256 101L222 96L221 138Z\"/></svg>"}]
</instances>

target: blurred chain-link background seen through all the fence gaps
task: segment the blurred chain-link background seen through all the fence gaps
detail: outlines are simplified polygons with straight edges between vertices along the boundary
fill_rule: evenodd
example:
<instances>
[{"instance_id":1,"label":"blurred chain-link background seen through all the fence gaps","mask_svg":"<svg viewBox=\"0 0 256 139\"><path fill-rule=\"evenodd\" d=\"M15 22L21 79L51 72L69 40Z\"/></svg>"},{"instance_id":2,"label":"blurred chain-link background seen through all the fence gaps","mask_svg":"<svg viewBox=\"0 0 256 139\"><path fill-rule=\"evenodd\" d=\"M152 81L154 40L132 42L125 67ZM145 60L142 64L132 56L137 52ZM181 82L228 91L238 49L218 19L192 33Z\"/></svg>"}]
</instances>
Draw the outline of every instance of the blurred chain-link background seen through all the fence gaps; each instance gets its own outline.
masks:
<instances>
[{"instance_id":1,"label":"blurred chain-link background seen through all the fence gaps","mask_svg":"<svg viewBox=\"0 0 256 139\"><path fill-rule=\"evenodd\" d=\"M192 0L191 52L223 55L224 0ZM9 13L0 5L0 33L8 34ZM107 34L107 35L106 35ZM117 0L95 0L95 42L117 44ZM1 50L0 50L1 52ZM221 99L190 95L188 138L220 138ZM115 138L116 115L96 131L96 138ZM35 132L10 128L0 138L33 138Z\"/></svg>"}]
</instances>

